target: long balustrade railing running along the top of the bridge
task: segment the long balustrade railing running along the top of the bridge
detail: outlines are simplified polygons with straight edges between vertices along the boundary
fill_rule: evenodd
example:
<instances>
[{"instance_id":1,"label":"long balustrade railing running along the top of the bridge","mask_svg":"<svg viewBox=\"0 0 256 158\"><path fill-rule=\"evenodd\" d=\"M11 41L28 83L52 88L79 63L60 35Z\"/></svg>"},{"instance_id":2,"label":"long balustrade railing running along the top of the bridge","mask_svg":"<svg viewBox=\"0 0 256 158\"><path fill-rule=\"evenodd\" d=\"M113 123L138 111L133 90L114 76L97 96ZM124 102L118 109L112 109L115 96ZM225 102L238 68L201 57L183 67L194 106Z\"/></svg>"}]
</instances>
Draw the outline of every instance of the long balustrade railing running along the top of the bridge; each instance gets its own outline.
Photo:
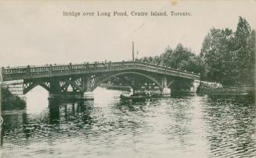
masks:
<instances>
[{"instance_id":1,"label":"long balustrade railing running along the top of the bridge","mask_svg":"<svg viewBox=\"0 0 256 158\"><path fill-rule=\"evenodd\" d=\"M142 61L121 61L121 62L95 62L95 63L82 63L82 64L69 64L69 65L40 65L16 68L2 68L2 76L23 76L23 75L55 75L55 74L72 74L79 72L97 72L98 70L105 69L122 70L122 69L142 69L150 72L158 72L164 74L197 77L198 74L193 72L186 72L175 68L168 68L161 65L153 65Z\"/></svg>"}]
</instances>

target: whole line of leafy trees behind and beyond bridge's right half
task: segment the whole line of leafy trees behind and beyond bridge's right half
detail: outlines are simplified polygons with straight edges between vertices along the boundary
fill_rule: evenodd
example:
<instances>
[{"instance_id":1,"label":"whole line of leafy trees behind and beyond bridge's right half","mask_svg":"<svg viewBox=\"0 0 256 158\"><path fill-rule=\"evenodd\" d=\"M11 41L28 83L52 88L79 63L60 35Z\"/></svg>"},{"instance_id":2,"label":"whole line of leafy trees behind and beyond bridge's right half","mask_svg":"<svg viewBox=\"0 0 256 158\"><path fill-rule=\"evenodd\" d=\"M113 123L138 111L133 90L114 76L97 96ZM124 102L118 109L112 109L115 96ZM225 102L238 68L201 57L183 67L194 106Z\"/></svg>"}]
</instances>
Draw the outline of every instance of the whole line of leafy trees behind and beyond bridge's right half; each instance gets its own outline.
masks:
<instances>
[{"instance_id":1,"label":"whole line of leafy trees behind and beyond bridge's right half","mask_svg":"<svg viewBox=\"0 0 256 158\"><path fill-rule=\"evenodd\" d=\"M223 86L255 86L255 36L247 20L239 17L236 31L211 28L198 55L178 44L139 61L200 73L202 80Z\"/></svg>"}]
</instances>

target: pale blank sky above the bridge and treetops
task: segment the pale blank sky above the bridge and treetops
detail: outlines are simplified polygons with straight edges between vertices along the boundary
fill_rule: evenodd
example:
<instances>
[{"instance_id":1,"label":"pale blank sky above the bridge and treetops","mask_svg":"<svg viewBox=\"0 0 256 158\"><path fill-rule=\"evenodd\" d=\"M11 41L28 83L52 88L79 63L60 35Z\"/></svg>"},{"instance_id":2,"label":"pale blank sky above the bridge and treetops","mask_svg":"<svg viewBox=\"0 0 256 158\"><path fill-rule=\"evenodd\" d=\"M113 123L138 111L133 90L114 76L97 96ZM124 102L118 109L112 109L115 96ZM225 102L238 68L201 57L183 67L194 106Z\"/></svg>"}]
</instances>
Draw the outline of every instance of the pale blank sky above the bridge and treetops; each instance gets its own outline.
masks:
<instances>
[{"instance_id":1,"label":"pale blank sky above the bridge and treetops","mask_svg":"<svg viewBox=\"0 0 256 158\"><path fill-rule=\"evenodd\" d=\"M129 16L63 16L63 11L128 12ZM169 16L131 16L130 12ZM170 16L171 11L191 16ZM195 54L212 27L236 30L239 16L256 28L256 1L0 2L0 66L122 61L155 56L181 43ZM135 53L136 54L136 53Z\"/></svg>"}]
</instances>

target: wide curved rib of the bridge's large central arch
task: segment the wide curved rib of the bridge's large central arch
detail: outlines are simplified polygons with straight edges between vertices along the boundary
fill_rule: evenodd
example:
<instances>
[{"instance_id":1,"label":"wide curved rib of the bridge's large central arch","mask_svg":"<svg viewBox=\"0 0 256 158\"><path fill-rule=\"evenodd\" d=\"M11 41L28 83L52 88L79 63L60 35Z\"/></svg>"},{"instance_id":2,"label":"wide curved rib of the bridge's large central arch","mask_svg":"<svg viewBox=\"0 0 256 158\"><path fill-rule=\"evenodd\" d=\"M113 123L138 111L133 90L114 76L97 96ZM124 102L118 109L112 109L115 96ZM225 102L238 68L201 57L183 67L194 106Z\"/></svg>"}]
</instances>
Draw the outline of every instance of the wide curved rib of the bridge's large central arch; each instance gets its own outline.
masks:
<instances>
[{"instance_id":1,"label":"wide curved rib of the bridge's large central arch","mask_svg":"<svg viewBox=\"0 0 256 158\"><path fill-rule=\"evenodd\" d=\"M94 86L92 86L92 91L95 90L95 89L97 88L97 86L99 86L100 83L104 83L104 82L106 82L107 80L113 78L114 76L124 75L124 74L141 75L141 76L143 76L143 77L146 77L147 79L150 79L151 81L153 81L153 83L156 83L157 86L160 87L160 90L163 89L162 85L157 81L157 79L154 79L154 78L153 78L152 76L150 76L150 75L145 75L145 74L143 74L143 73L141 73L141 72L118 72L118 73L116 73L116 74L109 75L109 76L107 76L106 78L99 80L98 83L96 83Z\"/></svg>"}]
</instances>

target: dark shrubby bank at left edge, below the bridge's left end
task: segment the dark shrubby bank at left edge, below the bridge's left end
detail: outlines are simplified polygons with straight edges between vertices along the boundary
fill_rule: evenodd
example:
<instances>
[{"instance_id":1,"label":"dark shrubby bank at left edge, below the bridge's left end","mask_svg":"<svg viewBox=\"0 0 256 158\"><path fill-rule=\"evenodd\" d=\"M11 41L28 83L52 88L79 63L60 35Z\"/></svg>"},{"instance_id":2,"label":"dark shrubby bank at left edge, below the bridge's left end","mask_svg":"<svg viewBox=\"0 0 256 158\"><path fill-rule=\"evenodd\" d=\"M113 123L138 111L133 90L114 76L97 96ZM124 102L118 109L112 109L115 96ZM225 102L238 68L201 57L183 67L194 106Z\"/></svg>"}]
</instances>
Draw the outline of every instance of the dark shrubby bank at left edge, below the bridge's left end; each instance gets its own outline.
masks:
<instances>
[{"instance_id":1,"label":"dark shrubby bank at left edge, below the bridge's left end","mask_svg":"<svg viewBox=\"0 0 256 158\"><path fill-rule=\"evenodd\" d=\"M25 107L25 100L13 95L7 88L1 87L1 110L22 110Z\"/></svg>"}]
</instances>

